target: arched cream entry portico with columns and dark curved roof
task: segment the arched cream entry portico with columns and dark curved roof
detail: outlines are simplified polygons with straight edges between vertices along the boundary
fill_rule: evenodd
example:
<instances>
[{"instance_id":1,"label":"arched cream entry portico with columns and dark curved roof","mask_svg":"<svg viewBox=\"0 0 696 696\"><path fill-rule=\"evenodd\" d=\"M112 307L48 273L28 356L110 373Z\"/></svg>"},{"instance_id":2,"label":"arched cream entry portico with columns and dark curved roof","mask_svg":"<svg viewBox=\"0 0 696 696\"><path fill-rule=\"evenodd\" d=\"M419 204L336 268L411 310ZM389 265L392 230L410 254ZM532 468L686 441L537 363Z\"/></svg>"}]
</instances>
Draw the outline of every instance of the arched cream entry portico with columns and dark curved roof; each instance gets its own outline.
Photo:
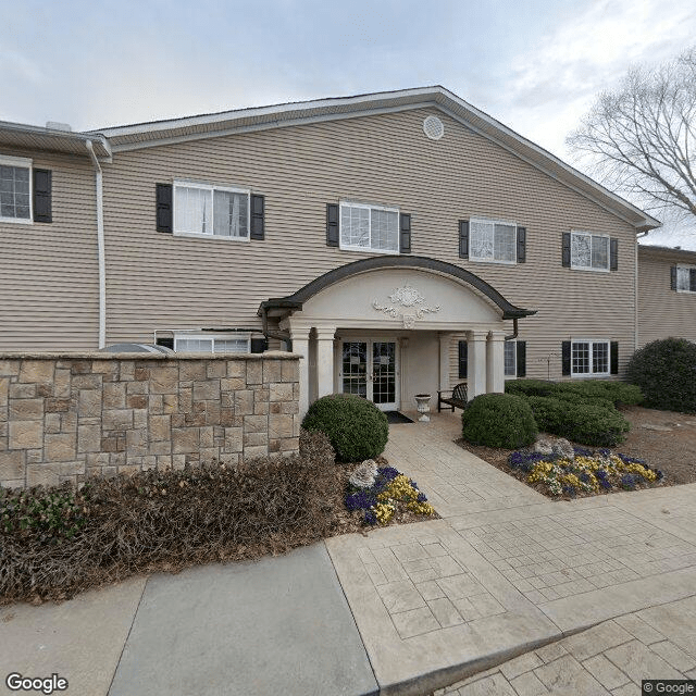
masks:
<instances>
[{"instance_id":1,"label":"arched cream entry portico with columns and dark curved roof","mask_svg":"<svg viewBox=\"0 0 696 696\"><path fill-rule=\"evenodd\" d=\"M423 257L375 257L339 266L294 295L262 302L301 355L300 411L351 391L385 409L449 387L449 344L465 333L470 397L504 390L505 320L535 313L485 281Z\"/></svg>"}]
</instances>

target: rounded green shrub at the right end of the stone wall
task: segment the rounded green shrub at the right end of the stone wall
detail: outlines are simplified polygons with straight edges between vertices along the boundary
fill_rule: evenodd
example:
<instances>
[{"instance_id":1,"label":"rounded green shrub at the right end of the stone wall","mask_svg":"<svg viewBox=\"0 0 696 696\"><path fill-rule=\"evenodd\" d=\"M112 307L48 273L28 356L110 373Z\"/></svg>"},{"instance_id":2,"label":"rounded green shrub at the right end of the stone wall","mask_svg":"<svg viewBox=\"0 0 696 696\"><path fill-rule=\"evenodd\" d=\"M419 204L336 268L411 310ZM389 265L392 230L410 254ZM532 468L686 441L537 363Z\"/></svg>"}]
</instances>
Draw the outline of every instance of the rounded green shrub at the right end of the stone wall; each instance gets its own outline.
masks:
<instances>
[{"instance_id":1,"label":"rounded green shrub at the right end of the stone wall","mask_svg":"<svg viewBox=\"0 0 696 696\"><path fill-rule=\"evenodd\" d=\"M324 433L338 461L373 459L384 451L389 437L387 417L372 401L355 394L318 399L309 407L302 427Z\"/></svg>"}]
</instances>

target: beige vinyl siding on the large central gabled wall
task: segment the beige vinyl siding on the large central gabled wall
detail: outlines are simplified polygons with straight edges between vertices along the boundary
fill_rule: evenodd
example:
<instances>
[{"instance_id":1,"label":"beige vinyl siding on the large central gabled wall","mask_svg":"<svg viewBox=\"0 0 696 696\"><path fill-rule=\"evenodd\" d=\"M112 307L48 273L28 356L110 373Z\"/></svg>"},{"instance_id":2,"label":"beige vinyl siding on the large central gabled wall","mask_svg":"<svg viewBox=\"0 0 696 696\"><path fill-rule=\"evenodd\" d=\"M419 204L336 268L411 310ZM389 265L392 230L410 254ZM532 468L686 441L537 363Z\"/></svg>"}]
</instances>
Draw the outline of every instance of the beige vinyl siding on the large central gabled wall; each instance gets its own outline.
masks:
<instances>
[{"instance_id":1,"label":"beige vinyl siding on the large central gabled wall","mask_svg":"<svg viewBox=\"0 0 696 696\"><path fill-rule=\"evenodd\" d=\"M442 140L423 135L431 113L445 124ZM263 194L265 240L156 232L154 186L175 178ZM411 213L413 254L459 264L538 309L520 321L529 376L546 376L549 353L560 376L561 340L572 337L618 340L622 365L633 351L634 228L434 109L116 153L104 191L109 341L145 340L153 328L260 325L261 300L371 256L325 245L326 203L349 199ZM459 259L458 221L472 215L525 226L527 262ZM572 228L618 237L619 271L562 268L561 235Z\"/></svg>"}]
</instances>

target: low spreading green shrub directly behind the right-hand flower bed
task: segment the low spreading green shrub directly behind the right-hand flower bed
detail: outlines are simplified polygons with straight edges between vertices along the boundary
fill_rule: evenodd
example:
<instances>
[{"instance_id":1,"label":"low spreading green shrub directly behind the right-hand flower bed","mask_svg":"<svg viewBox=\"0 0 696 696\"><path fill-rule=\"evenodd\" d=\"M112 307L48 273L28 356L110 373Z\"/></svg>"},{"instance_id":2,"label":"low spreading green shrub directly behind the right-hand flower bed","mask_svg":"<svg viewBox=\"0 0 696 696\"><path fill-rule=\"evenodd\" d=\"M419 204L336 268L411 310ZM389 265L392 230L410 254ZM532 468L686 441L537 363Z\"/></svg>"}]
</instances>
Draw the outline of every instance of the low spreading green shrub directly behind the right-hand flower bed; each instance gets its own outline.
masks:
<instances>
[{"instance_id":1,"label":"low spreading green shrub directly behind the right-hand flower bed","mask_svg":"<svg viewBox=\"0 0 696 696\"><path fill-rule=\"evenodd\" d=\"M581 445L613 447L622 443L631 430L630 423L606 399L572 402L533 396L527 401L539 430Z\"/></svg>"}]
</instances>

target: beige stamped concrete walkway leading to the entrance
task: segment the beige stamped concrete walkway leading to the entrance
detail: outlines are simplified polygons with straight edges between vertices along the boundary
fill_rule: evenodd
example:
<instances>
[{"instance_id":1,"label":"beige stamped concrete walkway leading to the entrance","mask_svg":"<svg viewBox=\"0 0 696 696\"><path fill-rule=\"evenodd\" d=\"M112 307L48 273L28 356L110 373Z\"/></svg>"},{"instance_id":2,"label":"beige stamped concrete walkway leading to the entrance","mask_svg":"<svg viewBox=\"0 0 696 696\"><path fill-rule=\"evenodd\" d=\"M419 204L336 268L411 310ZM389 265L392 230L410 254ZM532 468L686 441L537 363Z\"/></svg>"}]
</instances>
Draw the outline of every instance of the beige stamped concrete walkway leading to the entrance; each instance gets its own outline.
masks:
<instances>
[{"instance_id":1,"label":"beige stamped concrete walkway leading to the entrance","mask_svg":"<svg viewBox=\"0 0 696 696\"><path fill-rule=\"evenodd\" d=\"M462 693L515 694L509 680L513 691L499 686L502 668L488 681L481 672L696 595L696 485L549 501L457 446L459 422L393 425L386 451L442 520L326 542L381 693L427 694L477 674ZM557 684L563 664L536 664L518 684ZM598 689L573 693L608 693L588 683Z\"/></svg>"}]
</instances>

